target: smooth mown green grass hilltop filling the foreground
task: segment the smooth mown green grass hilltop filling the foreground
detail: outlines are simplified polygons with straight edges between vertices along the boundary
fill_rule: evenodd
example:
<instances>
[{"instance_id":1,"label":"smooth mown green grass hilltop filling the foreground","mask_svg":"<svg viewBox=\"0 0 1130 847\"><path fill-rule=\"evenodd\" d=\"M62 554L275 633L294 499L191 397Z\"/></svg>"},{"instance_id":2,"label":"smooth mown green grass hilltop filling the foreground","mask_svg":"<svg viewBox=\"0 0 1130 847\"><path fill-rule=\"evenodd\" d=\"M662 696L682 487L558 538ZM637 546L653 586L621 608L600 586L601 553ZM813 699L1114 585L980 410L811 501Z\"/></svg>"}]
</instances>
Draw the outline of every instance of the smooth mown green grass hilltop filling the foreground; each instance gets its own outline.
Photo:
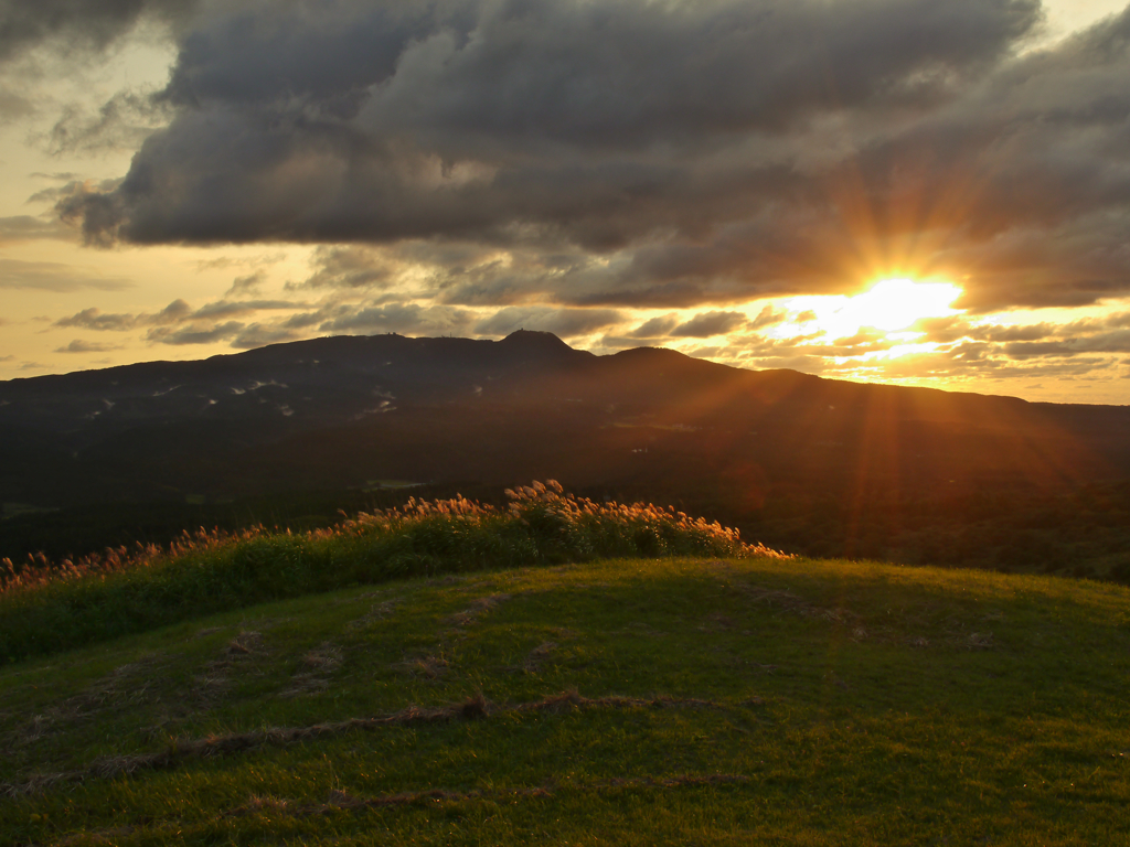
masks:
<instances>
[{"instance_id":1,"label":"smooth mown green grass hilltop filling the foreground","mask_svg":"<svg viewBox=\"0 0 1130 847\"><path fill-rule=\"evenodd\" d=\"M401 578L0 669L0 842L1127 845L1128 680L1087 580Z\"/></svg>"}]
</instances>

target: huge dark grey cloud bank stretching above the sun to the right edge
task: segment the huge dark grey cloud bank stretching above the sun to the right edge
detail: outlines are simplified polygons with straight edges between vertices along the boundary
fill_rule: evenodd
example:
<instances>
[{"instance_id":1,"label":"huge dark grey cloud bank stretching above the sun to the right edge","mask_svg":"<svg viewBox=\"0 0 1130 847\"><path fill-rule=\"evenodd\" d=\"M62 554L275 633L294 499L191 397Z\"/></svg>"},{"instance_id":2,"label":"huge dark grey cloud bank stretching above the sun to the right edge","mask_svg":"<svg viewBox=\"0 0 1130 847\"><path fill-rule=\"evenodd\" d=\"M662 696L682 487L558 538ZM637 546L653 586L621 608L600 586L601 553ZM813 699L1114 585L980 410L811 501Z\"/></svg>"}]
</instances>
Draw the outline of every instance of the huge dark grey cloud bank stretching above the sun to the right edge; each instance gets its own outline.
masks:
<instances>
[{"instance_id":1,"label":"huge dark grey cloud bank stretching above the sun to the right edge","mask_svg":"<svg viewBox=\"0 0 1130 847\"><path fill-rule=\"evenodd\" d=\"M96 244L333 242L296 285L415 262L453 306L720 308L883 272L950 276L982 312L1084 305L1130 292L1130 10L1019 54L1040 21L1036 0L217 6L181 30L168 128L59 210Z\"/></svg>"}]
</instances>

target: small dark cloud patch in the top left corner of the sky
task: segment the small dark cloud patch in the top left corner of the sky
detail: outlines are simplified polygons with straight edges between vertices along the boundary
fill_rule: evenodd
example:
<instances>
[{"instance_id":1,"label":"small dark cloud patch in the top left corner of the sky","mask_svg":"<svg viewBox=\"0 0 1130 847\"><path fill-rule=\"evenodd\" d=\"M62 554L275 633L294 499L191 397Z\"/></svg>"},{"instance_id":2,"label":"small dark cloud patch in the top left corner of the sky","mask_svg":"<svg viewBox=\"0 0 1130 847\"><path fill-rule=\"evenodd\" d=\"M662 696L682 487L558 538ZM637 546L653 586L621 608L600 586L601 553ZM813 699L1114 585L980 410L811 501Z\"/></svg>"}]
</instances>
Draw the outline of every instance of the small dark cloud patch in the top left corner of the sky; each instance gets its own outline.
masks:
<instances>
[{"instance_id":1,"label":"small dark cloud patch in the top left corner of the sky","mask_svg":"<svg viewBox=\"0 0 1130 847\"><path fill-rule=\"evenodd\" d=\"M0 62L42 44L102 50L149 17L182 21L197 0L0 0Z\"/></svg>"}]
</instances>

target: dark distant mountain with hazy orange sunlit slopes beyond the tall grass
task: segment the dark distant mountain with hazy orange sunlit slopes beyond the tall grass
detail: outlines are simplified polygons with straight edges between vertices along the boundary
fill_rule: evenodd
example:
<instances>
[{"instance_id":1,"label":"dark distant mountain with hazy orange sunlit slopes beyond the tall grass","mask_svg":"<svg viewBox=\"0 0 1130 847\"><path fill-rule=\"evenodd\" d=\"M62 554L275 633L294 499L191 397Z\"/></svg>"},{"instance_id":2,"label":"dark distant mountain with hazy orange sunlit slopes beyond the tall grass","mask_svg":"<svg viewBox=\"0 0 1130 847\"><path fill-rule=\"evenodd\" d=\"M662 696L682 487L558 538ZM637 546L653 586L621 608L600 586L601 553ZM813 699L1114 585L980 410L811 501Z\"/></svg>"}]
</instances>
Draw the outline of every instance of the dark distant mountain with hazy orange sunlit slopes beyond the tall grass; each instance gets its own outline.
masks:
<instances>
[{"instance_id":1,"label":"dark distant mountain with hazy orange sunlit slopes beyond the tall grass","mask_svg":"<svg viewBox=\"0 0 1130 847\"><path fill-rule=\"evenodd\" d=\"M0 558L558 479L808 556L1130 580L1130 407L401 335L0 383Z\"/></svg>"}]
</instances>

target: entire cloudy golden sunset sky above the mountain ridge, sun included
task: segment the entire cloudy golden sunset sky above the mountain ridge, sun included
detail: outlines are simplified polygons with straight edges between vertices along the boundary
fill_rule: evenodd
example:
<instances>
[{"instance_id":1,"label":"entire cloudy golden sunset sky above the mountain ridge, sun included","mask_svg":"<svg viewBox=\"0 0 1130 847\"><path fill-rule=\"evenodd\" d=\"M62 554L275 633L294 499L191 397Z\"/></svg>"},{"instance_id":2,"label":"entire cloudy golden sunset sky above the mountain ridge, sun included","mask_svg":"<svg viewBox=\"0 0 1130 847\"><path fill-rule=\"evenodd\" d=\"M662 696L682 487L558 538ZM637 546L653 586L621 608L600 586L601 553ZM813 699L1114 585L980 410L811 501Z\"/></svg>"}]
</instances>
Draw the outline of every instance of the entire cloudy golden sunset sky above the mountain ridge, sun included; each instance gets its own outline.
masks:
<instances>
[{"instance_id":1,"label":"entire cloudy golden sunset sky above the mountain ridge, sun included","mask_svg":"<svg viewBox=\"0 0 1130 847\"><path fill-rule=\"evenodd\" d=\"M0 379L550 331L1130 403L1121 0L0 0Z\"/></svg>"}]
</instances>

